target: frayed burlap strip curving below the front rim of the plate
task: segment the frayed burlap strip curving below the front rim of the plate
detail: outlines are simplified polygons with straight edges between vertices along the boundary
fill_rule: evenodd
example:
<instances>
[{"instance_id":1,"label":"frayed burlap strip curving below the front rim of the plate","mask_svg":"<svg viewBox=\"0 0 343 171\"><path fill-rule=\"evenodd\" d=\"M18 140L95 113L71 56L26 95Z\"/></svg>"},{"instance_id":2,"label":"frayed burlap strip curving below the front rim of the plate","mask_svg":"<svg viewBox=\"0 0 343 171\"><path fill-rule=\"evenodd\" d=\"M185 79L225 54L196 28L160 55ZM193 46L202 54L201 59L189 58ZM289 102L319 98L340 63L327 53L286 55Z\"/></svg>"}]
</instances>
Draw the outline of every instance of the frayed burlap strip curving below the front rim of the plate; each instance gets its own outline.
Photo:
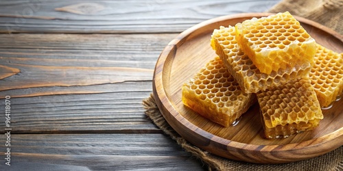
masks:
<instances>
[{"instance_id":1,"label":"frayed burlap strip curving below the front rim of the plate","mask_svg":"<svg viewBox=\"0 0 343 171\"><path fill-rule=\"evenodd\" d=\"M191 153L191 155L205 163L209 170L343 170L343 146L320 157L283 164L256 164L224 159L223 157L213 155L193 146L176 133L176 131L170 127L165 118L163 118L152 94L150 94L150 97L143 100L143 107L145 109L145 114L152 120L152 122L154 122L154 124L156 124L158 128L160 128L165 134L169 135L171 139L175 140L177 144L187 152Z\"/></svg>"}]
</instances>

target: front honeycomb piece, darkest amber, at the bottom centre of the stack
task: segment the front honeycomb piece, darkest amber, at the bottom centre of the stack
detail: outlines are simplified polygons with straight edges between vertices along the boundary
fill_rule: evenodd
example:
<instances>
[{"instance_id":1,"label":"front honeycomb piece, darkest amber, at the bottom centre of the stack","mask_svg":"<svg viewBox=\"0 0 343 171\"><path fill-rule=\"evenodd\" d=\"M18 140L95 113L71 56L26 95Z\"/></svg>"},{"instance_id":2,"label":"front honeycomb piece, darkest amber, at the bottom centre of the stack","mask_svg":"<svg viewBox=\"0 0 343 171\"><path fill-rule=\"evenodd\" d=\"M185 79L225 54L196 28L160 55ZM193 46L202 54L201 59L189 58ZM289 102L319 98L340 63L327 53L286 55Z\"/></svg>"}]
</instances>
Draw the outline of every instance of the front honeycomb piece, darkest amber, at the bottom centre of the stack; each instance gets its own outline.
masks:
<instances>
[{"instance_id":1,"label":"front honeycomb piece, darkest amber, at the bottom centre of the stack","mask_svg":"<svg viewBox=\"0 0 343 171\"><path fill-rule=\"evenodd\" d=\"M257 93L265 137L287 137L309 131L322 120L322 110L309 79L298 79Z\"/></svg>"}]
</instances>

